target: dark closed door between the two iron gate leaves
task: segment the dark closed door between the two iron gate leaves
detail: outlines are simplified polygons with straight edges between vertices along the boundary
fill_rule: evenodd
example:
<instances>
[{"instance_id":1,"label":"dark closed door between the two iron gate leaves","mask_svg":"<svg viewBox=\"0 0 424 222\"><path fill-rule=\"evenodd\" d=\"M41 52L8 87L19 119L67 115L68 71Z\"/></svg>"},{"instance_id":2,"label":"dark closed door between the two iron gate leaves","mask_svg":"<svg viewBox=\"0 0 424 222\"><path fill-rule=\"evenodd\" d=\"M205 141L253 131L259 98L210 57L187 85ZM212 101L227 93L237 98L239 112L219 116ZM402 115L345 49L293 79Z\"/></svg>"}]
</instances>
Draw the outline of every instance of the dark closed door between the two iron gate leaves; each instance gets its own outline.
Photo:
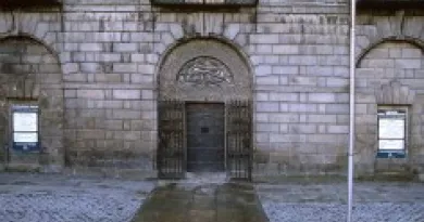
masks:
<instances>
[{"instance_id":1,"label":"dark closed door between the two iron gate leaves","mask_svg":"<svg viewBox=\"0 0 424 222\"><path fill-rule=\"evenodd\" d=\"M223 103L187 103L187 171L225 170Z\"/></svg>"}]
</instances>

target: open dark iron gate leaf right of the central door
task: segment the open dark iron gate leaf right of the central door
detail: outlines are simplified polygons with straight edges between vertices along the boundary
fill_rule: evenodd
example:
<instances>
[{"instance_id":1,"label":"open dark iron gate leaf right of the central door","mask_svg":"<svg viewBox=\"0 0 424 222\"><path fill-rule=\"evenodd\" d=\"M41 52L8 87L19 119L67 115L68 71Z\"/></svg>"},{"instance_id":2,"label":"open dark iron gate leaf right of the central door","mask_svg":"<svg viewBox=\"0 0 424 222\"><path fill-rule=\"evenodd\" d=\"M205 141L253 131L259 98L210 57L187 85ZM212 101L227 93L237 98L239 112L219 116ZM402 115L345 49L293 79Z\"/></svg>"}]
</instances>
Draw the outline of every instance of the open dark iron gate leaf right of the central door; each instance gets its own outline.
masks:
<instances>
[{"instance_id":1,"label":"open dark iron gate leaf right of the central door","mask_svg":"<svg viewBox=\"0 0 424 222\"><path fill-rule=\"evenodd\" d=\"M250 101L226 104L227 171L233 179L251 181L252 109Z\"/></svg>"}]
</instances>

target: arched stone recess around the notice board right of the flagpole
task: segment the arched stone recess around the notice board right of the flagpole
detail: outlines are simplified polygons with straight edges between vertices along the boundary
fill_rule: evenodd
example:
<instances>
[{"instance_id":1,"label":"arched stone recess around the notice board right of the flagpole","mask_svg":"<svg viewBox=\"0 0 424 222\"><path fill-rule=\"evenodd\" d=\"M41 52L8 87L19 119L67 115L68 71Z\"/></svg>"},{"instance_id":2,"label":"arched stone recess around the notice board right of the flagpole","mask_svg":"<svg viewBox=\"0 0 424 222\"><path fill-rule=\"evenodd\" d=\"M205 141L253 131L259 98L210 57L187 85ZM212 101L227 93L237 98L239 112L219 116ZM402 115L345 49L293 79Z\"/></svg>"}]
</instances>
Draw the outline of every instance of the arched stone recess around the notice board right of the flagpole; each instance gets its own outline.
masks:
<instances>
[{"instance_id":1,"label":"arched stone recess around the notice board right of the flagpole","mask_svg":"<svg viewBox=\"0 0 424 222\"><path fill-rule=\"evenodd\" d=\"M424 47L415 39L382 39L357 62L357 170L412 172L423 165ZM378 109L408 110L406 158L379 158Z\"/></svg>"}]
</instances>

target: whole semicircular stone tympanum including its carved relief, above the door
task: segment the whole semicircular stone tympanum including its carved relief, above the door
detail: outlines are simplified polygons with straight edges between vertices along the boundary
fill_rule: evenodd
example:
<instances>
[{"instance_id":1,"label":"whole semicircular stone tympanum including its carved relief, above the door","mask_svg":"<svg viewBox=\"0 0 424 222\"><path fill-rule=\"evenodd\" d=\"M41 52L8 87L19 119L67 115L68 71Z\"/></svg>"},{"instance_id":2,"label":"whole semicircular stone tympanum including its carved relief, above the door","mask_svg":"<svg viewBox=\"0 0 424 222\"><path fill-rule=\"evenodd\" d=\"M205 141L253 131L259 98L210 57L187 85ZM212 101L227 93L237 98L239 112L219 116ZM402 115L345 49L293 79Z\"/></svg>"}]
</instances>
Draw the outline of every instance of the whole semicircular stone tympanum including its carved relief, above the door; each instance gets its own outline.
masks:
<instances>
[{"instance_id":1,"label":"whole semicircular stone tympanum including its carved relief, above the door","mask_svg":"<svg viewBox=\"0 0 424 222\"><path fill-rule=\"evenodd\" d=\"M227 101L251 97L251 74L230 47L215 40L192 40L174 49L161 66L161 99Z\"/></svg>"}]
</instances>

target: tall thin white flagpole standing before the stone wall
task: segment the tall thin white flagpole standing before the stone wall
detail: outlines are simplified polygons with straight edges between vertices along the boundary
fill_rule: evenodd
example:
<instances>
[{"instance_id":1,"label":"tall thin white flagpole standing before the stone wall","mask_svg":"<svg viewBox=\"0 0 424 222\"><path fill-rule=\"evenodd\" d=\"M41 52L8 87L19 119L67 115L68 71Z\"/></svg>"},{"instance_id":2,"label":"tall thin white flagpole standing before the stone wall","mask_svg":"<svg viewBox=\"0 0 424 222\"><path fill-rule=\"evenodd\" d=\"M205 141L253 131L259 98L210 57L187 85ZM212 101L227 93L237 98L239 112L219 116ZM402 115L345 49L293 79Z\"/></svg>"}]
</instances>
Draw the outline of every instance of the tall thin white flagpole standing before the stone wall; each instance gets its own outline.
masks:
<instances>
[{"instance_id":1,"label":"tall thin white flagpole standing before the stone wall","mask_svg":"<svg viewBox=\"0 0 424 222\"><path fill-rule=\"evenodd\" d=\"M352 221L352 200L353 200L353 147L354 147L354 47L356 47L356 8L357 0L350 0L350 116L349 116L349 153L348 153L348 218L347 222Z\"/></svg>"}]
</instances>

